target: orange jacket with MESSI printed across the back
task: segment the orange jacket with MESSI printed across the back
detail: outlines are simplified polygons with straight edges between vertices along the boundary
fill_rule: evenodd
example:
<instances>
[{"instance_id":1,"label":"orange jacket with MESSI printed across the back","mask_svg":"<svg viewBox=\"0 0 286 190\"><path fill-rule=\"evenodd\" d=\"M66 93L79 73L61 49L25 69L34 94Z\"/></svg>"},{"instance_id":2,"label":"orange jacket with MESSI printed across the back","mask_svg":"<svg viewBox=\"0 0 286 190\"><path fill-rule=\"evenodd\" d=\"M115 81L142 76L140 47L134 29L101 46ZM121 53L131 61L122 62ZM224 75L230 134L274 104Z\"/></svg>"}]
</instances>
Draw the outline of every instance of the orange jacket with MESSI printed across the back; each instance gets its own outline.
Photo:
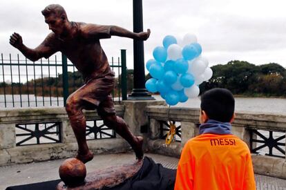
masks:
<instances>
[{"instance_id":1,"label":"orange jacket with MESSI printed across the back","mask_svg":"<svg viewBox=\"0 0 286 190\"><path fill-rule=\"evenodd\" d=\"M256 189L251 154L235 135L205 133L182 150L175 190Z\"/></svg>"}]
</instances>

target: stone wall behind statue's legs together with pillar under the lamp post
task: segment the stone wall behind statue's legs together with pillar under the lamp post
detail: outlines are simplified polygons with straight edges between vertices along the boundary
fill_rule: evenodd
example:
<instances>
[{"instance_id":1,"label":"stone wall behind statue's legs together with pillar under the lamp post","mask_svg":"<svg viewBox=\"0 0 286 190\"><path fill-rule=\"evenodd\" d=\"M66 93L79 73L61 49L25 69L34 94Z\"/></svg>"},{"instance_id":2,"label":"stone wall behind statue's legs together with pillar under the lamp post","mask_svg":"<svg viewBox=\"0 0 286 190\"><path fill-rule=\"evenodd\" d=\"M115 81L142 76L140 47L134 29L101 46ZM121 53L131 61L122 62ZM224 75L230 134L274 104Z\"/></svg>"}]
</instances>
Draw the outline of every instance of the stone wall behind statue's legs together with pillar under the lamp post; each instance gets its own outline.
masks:
<instances>
[{"instance_id":1,"label":"stone wall behind statue's legs together with pillar under the lamp post","mask_svg":"<svg viewBox=\"0 0 286 190\"><path fill-rule=\"evenodd\" d=\"M115 106L118 116L124 117L135 135L143 135L148 129L146 107L164 105L162 101L125 101ZM85 111L86 120L101 120L96 111ZM16 146L16 124L60 122L61 143ZM144 141L144 147L146 147ZM130 151L129 144L116 135L114 139L88 140L93 153L118 153ZM59 158L70 158L77 153L77 142L70 126L65 108L13 108L0 111L0 166L27 162L39 162Z\"/></svg>"}]
</instances>

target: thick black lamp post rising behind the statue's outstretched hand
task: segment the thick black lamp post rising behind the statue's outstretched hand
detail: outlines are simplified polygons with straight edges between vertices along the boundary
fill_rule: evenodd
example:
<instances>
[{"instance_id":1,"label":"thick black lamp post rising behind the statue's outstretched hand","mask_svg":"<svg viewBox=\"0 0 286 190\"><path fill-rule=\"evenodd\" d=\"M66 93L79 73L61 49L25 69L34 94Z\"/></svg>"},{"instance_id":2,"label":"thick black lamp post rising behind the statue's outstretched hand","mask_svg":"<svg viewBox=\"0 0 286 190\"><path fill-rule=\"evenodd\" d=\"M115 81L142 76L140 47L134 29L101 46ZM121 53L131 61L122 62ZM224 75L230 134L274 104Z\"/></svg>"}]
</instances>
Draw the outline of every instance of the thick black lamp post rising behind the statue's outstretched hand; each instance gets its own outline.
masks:
<instances>
[{"instance_id":1,"label":"thick black lamp post rising behind the statue's outstretched hand","mask_svg":"<svg viewBox=\"0 0 286 190\"><path fill-rule=\"evenodd\" d=\"M142 0L133 0L133 32L143 31ZM144 44L142 40L133 41L134 88L128 99L154 99L145 88Z\"/></svg>"}]
</instances>

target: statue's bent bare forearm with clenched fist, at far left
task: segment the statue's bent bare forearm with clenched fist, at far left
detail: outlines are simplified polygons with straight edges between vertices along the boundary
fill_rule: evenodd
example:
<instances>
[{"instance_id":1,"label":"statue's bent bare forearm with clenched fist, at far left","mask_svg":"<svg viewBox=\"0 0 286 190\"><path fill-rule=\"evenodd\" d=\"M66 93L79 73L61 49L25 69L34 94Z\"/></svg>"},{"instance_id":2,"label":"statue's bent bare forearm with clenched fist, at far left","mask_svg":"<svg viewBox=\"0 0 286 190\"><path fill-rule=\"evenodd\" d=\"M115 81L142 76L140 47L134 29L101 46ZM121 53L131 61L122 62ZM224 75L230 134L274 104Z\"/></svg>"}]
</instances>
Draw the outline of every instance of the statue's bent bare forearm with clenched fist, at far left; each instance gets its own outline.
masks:
<instances>
[{"instance_id":1,"label":"statue's bent bare forearm with clenched fist, at far left","mask_svg":"<svg viewBox=\"0 0 286 190\"><path fill-rule=\"evenodd\" d=\"M31 61L37 61L42 57L48 58L50 57L50 55L53 55L56 52L50 46L46 46L44 43L45 41L43 41L43 43L37 46L37 48L31 49L23 44L22 37L18 33L14 32L10 36L10 44L20 50L21 53L23 53L23 55L25 55L25 57L27 57Z\"/></svg>"}]
</instances>

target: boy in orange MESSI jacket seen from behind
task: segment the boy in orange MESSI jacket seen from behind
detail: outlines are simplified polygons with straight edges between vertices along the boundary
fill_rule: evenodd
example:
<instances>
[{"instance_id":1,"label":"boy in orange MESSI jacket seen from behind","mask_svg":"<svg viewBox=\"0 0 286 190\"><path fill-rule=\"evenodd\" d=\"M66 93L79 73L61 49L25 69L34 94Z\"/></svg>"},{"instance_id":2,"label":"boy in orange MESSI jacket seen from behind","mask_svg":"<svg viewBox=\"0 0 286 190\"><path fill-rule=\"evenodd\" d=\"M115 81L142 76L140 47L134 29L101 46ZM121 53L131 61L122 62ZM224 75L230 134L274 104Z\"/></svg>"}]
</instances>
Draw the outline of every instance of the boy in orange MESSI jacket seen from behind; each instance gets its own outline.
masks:
<instances>
[{"instance_id":1,"label":"boy in orange MESSI jacket seen from behind","mask_svg":"<svg viewBox=\"0 0 286 190\"><path fill-rule=\"evenodd\" d=\"M234 98L224 88L201 96L200 135L189 140L178 163L175 190L256 189L251 154L231 134Z\"/></svg>"}]
</instances>

